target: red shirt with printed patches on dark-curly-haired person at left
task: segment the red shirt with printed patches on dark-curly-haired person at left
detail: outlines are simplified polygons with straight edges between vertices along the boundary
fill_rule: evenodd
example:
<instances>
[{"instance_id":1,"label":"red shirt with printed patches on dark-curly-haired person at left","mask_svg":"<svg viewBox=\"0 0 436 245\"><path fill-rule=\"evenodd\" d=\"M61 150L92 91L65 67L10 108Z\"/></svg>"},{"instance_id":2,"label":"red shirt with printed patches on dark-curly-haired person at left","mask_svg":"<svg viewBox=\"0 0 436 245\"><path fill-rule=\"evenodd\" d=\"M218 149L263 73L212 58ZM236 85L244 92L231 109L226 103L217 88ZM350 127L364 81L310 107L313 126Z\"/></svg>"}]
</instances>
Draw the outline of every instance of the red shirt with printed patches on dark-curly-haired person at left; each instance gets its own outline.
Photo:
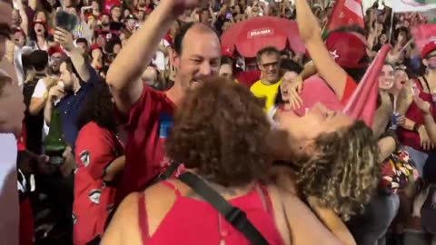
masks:
<instances>
[{"instance_id":1,"label":"red shirt with printed patches on dark-curly-haired person at left","mask_svg":"<svg viewBox=\"0 0 436 245\"><path fill-rule=\"evenodd\" d=\"M113 132L88 122L75 142L77 171L74 174L74 244L86 244L102 235L114 208L115 189L103 181L104 169L123 155Z\"/></svg>"}]
</instances>

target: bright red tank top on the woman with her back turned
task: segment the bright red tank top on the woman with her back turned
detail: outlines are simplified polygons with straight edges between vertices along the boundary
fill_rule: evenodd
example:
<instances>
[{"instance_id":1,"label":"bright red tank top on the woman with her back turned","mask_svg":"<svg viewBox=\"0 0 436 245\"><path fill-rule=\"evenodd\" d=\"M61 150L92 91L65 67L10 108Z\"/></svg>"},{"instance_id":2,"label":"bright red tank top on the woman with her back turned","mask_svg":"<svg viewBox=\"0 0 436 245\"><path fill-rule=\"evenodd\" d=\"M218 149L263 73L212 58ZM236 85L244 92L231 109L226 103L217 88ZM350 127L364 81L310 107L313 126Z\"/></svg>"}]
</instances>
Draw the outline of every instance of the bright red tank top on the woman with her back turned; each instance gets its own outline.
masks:
<instances>
[{"instance_id":1,"label":"bright red tank top on the woman with her back turned","mask_svg":"<svg viewBox=\"0 0 436 245\"><path fill-rule=\"evenodd\" d=\"M140 195L138 214L143 244L219 244L220 240L225 240L227 245L250 244L243 233L235 230L209 203L182 196L169 181L162 183L174 190L176 198L173 207L150 237L144 192ZM284 244L275 226L271 199L263 186L257 185L250 193L229 202L246 212L247 218L269 244Z\"/></svg>"}]
</instances>

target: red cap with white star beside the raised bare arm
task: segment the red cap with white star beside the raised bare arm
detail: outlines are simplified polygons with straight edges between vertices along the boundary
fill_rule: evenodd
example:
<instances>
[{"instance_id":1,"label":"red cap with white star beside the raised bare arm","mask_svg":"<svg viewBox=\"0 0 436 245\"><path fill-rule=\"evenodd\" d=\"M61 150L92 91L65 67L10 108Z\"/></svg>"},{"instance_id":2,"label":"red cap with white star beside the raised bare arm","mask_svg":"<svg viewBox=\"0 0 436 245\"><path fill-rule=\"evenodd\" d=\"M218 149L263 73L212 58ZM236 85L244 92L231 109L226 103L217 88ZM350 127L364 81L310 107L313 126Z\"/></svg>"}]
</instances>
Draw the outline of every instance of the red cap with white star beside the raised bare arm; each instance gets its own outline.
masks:
<instances>
[{"instance_id":1,"label":"red cap with white star beside the raised bare arm","mask_svg":"<svg viewBox=\"0 0 436 245\"><path fill-rule=\"evenodd\" d=\"M342 68L362 68L368 65L361 63L367 45L356 34L333 32L327 37L325 46Z\"/></svg>"}]
</instances>

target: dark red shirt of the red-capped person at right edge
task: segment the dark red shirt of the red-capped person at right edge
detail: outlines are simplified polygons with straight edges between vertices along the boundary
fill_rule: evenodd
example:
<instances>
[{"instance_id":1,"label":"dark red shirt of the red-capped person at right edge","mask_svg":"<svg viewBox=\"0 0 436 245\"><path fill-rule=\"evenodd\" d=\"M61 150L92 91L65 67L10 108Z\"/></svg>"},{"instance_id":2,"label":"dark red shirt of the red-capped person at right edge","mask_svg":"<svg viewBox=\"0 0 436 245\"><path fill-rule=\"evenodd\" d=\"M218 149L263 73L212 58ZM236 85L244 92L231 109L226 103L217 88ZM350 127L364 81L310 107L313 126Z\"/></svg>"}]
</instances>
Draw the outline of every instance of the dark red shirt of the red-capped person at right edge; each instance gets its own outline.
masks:
<instances>
[{"instance_id":1,"label":"dark red shirt of the red-capped person at right edge","mask_svg":"<svg viewBox=\"0 0 436 245\"><path fill-rule=\"evenodd\" d=\"M431 99L431 93L424 93L422 91L422 86L420 81L415 81L417 88L420 91L420 97L423 101L430 103L430 113L433 115L433 118L435 118L435 108L434 103ZM409 110L405 114L406 118L410 119L413 122L423 124L424 123L424 117L422 116L420 108L416 105L416 103L411 102L411 106L409 106ZM421 139L420 135L416 132L405 130L403 128L398 129L398 139L400 142L404 145L410 146L415 150L418 150L420 152L428 152L424 151L424 149L421 147Z\"/></svg>"}]
</instances>

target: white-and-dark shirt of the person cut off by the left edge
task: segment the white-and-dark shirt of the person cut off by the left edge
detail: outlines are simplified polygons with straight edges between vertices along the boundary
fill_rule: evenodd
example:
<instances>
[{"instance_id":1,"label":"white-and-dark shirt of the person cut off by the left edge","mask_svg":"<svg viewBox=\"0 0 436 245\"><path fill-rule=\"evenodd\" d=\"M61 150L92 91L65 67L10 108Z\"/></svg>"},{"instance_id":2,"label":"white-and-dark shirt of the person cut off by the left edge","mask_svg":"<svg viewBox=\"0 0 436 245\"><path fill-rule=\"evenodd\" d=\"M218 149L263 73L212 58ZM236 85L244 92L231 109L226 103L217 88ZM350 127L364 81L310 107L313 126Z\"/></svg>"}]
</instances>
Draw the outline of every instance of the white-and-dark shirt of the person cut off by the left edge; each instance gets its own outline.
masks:
<instances>
[{"instance_id":1,"label":"white-and-dark shirt of the person cut off by the left edge","mask_svg":"<svg viewBox=\"0 0 436 245\"><path fill-rule=\"evenodd\" d=\"M19 204L16 180L16 140L0 133L0 244L18 244Z\"/></svg>"}]
</instances>

